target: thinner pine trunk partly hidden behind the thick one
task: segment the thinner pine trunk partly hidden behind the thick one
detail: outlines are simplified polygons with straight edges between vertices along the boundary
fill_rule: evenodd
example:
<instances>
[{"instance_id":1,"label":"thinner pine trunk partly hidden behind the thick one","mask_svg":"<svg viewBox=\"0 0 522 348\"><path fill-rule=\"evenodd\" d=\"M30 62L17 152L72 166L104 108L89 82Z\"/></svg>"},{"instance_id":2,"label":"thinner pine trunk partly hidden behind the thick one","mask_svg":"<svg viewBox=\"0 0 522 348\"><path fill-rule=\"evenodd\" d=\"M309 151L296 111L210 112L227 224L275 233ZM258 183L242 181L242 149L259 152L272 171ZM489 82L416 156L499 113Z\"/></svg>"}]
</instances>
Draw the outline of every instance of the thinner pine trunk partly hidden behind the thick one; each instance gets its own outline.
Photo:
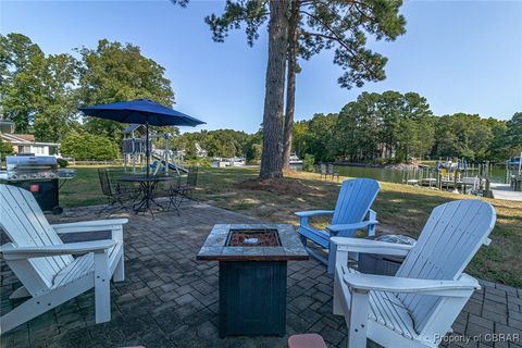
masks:
<instances>
[{"instance_id":1,"label":"thinner pine trunk partly hidden behind the thick one","mask_svg":"<svg viewBox=\"0 0 522 348\"><path fill-rule=\"evenodd\" d=\"M297 39L299 24L299 0L291 1L288 27L288 75L286 85L286 112L284 129L283 169L290 169L291 136L294 130L294 110L296 104Z\"/></svg>"}]
</instances>

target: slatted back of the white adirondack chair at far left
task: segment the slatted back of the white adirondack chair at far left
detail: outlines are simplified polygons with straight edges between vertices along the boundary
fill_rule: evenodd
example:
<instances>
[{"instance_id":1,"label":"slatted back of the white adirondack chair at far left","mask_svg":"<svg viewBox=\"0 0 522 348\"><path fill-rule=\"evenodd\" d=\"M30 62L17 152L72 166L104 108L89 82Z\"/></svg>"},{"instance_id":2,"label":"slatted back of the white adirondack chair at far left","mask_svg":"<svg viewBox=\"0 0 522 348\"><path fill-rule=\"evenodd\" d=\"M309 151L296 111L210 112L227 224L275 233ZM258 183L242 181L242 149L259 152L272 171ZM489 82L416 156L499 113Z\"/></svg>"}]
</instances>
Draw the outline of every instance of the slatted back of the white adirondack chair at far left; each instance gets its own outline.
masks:
<instances>
[{"instance_id":1,"label":"slatted back of the white adirondack chair at far left","mask_svg":"<svg viewBox=\"0 0 522 348\"><path fill-rule=\"evenodd\" d=\"M17 247L63 244L55 231L49 225L32 192L12 185L0 185L0 226ZM51 286L54 275L72 261L71 256L30 259L29 264L33 266L34 274L16 275L21 281L23 277L39 277L41 279L39 282L40 286L42 284ZM24 285L26 284L24 283ZM32 294L33 291L44 290L27 289Z\"/></svg>"}]
</instances>

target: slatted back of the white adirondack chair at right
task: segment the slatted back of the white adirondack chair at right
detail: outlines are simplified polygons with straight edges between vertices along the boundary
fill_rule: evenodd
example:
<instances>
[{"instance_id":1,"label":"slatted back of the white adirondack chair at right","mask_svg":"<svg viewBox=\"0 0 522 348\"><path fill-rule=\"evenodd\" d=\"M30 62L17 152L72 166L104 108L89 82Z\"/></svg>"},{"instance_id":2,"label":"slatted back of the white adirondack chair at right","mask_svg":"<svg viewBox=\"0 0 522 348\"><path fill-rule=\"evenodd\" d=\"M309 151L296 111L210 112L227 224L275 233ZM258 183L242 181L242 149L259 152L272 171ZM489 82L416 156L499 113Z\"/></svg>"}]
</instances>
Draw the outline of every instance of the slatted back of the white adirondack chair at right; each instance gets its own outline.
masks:
<instances>
[{"instance_id":1,"label":"slatted back of the white adirondack chair at right","mask_svg":"<svg viewBox=\"0 0 522 348\"><path fill-rule=\"evenodd\" d=\"M456 200L435 208L397 276L458 279L495 226L494 208L482 200ZM442 298L399 294L420 333Z\"/></svg>"}]
</instances>

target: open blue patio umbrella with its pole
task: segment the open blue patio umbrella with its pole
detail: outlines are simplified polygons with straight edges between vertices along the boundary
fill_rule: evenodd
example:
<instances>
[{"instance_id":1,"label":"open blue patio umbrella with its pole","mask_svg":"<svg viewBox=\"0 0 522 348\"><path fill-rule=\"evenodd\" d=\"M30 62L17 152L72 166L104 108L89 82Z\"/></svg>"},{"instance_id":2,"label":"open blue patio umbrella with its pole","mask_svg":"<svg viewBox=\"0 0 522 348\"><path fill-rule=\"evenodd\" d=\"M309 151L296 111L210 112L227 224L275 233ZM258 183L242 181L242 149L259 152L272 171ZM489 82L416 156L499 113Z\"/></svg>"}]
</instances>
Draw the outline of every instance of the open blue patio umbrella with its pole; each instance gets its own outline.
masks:
<instances>
[{"instance_id":1,"label":"open blue patio umbrella with its pole","mask_svg":"<svg viewBox=\"0 0 522 348\"><path fill-rule=\"evenodd\" d=\"M149 99L114 102L110 104L79 108L87 116L116 121L121 123L137 123L146 125L146 158L147 176L149 176L149 125L153 126L197 126L203 121L186 115L179 111L164 107Z\"/></svg>"}]
</instances>

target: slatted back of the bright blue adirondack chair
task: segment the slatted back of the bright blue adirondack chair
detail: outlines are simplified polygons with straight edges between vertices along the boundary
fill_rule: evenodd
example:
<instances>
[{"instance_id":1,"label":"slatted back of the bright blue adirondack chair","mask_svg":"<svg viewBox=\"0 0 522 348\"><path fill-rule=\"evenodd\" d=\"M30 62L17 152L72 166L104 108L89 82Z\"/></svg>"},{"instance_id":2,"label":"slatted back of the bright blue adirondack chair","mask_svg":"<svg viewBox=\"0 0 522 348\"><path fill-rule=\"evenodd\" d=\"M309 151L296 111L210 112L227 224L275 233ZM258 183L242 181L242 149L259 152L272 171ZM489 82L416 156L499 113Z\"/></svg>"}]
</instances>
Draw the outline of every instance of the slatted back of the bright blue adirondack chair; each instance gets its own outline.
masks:
<instances>
[{"instance_id":1,"label":"slatted back of the bright blue adirondack chair","mask_svg":"<svg viewBox=\"0 0 522 348\"><path fill-rule=\"evenodd\" d=\"M332 224L363 221L380 189L378 183L371 178L353 178L343 182Z\"/></svg>"}]
</instances>

